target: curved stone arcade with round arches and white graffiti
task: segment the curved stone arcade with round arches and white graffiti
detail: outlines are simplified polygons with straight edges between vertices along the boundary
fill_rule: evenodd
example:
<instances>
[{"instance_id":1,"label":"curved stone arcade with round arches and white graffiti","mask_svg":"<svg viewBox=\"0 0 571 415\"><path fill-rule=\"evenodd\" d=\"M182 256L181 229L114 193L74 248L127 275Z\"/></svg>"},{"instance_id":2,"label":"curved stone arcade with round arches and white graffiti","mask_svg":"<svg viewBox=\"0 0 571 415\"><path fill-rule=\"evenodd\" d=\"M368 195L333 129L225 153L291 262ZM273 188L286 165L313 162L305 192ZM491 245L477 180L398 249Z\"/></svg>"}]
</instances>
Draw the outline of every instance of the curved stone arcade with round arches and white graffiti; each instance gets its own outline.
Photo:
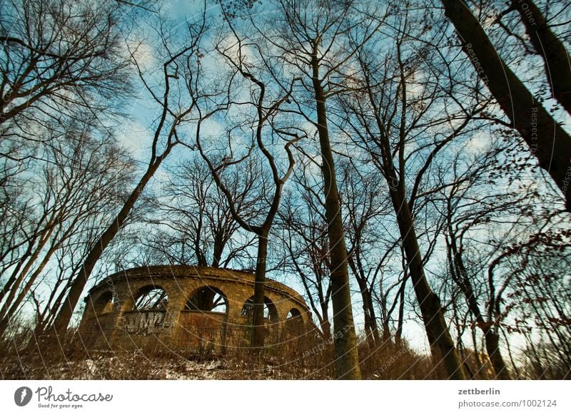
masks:
<instances>
[{"instance_id":1,"label":"curved stone arcade with round arches and white graffiti","mask_svg":"<svg viewBox=\"0 0 571 415\"><path fill-rule=\"evenodd\" d=\"M80 332L94 347L174 349L248 347L254 275L211 267L160 265L109 275L89 290ZM303 298L266 280L266 344L305 332L311 324Z\"/></svg>"}]
</instances>

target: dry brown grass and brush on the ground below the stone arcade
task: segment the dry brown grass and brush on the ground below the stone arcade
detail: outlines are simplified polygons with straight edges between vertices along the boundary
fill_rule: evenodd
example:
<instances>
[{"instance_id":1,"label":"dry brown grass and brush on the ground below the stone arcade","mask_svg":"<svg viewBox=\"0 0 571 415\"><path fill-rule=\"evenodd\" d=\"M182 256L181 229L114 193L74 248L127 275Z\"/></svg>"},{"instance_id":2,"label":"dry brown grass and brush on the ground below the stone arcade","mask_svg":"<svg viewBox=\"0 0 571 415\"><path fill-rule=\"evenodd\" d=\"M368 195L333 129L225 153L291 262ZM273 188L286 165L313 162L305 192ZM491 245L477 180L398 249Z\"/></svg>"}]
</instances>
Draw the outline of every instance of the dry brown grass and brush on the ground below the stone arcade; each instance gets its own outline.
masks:
<instances>
[{"instance_id":1,"label":"dry brown grass and brush on the ground below the stone arcade","mask_svg":"<svg viewBox=\"0 0 571 415\"><path fill-rule=\"evenodd\" d=\"M170 347L159 337L121 346L95 344L89 334L70 331L64 343L34 339L22 329L0 344L2 379L334 379L333 346L315 333L273 339L259 352L248 342ZM360 339L363 379L443 379L430 357L387 341L375 346ZM487 369L475 370L486 379Z\"/></svg>"}]
</instances>

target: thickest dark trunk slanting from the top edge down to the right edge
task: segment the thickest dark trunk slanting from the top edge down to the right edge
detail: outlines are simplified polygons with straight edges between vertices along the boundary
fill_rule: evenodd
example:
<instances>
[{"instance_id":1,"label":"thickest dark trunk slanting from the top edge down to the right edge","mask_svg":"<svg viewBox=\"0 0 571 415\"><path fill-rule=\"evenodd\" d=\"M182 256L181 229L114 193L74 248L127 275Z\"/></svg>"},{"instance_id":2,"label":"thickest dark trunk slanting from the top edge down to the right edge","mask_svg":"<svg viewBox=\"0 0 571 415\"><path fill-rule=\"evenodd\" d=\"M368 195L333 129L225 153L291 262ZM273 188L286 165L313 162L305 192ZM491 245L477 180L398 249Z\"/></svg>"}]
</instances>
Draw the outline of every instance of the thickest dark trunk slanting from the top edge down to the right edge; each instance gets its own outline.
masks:
<instances>
[{"instance_id":1,"label":"thickest dark trunk slanting from the top edge down to the right edge","mask_svg":"<svg viewBox=\"0 0 571 415\"><path fill-rule=\"evenodd\" d=\"M562 190L571 210L571 138L505 65L464 1L441 0L445 14L462 38L463 49L482 76L512 127L529 145L540 166ZM552 68L557 71L558 69Z\"/></svg>"}]
</instances>

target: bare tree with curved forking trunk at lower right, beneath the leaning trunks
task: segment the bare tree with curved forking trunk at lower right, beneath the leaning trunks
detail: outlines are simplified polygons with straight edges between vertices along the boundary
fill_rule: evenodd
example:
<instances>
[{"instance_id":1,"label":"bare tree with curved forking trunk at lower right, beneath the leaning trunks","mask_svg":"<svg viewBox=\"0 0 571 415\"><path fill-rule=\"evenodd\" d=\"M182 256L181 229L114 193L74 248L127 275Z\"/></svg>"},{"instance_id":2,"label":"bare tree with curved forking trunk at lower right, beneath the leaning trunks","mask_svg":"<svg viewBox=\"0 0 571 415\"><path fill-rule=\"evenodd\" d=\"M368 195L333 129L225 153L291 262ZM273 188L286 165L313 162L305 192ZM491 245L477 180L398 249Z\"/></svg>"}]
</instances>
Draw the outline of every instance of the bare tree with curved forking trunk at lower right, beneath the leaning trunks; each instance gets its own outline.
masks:
<instances>
[{"instance_id":1,"label":"bare tree with curved forking trunk at lower right, beneath the leaning trunks","mask_svg":"<svg viewBox=\"0 0 571 415\"><path fill-rule=\"evenodd\" d=\"M473 327L482 333L497 379L511 378L500 348L502 329L510 332L519 330L517 324L509 321L515 304L508 304L507 299L512 297L515 281L520 280L528 265L527 260L518 262L515 258L527 250L541 255L537 249L540 241L545 240L544 243L549 245L552 242L547 241L558 239L542 230L553 215L549 211L550 205L538 207L541 203L537 190L524 190L527 184L516 185L518 176L529 172L530 163L521 160L520 153L506 145L504 142L498 147L493 146L475 159L460 161L456 158L448 169L448 174L454 175L454 179L446 179L453 185L443 190L445 203L439 207L447 222L446 280L458 287L465 309L471 316L455 316L455 321L462 327ZM467 180L458 180L462 175ZM510 186L506 187L505 183L510 183ZM544 200L549 200L545 196L542 196ZM481 235L489 236L486 239ZM512 267L506 269L502 265L505 262L513 264ZM463 304L459 307L464 307ZM473 320L467 321L467 317ZM515 321L518 320L520 317L515 317ZM507 337L505 342L507 345ZM478 364L481 370L481 362ZM517 371L515 364L512 366Z\"/></svg>"}]
</instances>

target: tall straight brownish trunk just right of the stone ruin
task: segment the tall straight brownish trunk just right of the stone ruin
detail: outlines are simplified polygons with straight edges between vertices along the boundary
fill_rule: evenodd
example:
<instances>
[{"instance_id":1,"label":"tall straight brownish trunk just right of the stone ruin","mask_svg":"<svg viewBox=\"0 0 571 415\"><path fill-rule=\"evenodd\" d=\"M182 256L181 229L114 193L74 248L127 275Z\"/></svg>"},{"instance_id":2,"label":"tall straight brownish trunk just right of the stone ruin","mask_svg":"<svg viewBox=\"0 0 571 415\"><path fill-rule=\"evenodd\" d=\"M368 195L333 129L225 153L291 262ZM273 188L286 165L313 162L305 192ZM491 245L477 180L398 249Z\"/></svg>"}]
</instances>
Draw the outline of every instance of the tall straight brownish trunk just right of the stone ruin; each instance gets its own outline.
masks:
<instances>
[{"instance_id":1,"label":"tall straight brownish trunk just right of the stone ruin","mask_svg":"<svg viewBox=\"0 0 571 415\"><path fill-rule=\"evenodd\" d=\"M314 45L312 82L318 120L318 135L321 148L323 185L325 193L325 218L330 246L331 302L333 304L333 330L335 350L335 377L337 379L360 379L357 336L353 323L353 307L349 289L347 247L341 219L341 204L335 179L335 163L329 140L325 93L319 79L318 48Z\"/></svg>"}]
</instances>

